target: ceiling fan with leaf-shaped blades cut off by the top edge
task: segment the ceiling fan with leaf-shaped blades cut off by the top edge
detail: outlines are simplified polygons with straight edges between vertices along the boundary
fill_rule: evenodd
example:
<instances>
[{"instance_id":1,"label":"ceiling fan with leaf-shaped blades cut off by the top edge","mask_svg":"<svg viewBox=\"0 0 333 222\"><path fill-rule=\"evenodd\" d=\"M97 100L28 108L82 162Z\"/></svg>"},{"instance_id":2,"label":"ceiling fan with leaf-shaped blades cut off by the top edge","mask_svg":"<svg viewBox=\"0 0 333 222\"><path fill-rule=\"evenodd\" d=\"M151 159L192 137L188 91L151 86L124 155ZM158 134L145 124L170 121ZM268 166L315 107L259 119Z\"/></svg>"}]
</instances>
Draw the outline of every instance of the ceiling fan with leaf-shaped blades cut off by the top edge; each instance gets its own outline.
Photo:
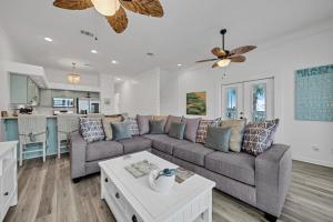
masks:
<instances>
[{"instance_id":1,"label":"ceiling fan with leaf-shaped blades cut off by the top edge","mask_svg":"<svg viewBox=\"0 0 333 222\"><path fill-rule=\"evenodd\" d=\"M159 0L54 0L54 7L68 10L84 10L94 8L105 17L117 33L123 32L128 27L125 10L135 13L163 17L163 8Z\"/></svg>"}]
</instances>

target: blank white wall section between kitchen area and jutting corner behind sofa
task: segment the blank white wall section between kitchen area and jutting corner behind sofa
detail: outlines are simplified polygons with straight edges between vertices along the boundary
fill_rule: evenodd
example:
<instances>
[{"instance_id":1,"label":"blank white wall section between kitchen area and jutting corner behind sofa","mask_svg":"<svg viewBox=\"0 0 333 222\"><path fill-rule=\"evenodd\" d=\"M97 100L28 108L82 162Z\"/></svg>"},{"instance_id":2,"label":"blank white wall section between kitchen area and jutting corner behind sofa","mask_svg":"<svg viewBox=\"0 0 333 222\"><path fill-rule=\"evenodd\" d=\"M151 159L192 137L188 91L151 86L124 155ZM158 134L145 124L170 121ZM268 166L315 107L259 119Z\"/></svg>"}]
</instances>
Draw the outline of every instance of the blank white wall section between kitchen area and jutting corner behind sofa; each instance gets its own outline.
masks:
<instances>
[{"instance_id":1,"label":"blank white wall section between kitchen area and jutting corner behind sofa","mask_svg":"<svg viewBox=\"0 0 333 222\"><path fill-rule=\"evenodd\" d=\"M120 112L135 114L160 113L160 69L148 71L117 87Z\"/></svg>"}]
</instances>

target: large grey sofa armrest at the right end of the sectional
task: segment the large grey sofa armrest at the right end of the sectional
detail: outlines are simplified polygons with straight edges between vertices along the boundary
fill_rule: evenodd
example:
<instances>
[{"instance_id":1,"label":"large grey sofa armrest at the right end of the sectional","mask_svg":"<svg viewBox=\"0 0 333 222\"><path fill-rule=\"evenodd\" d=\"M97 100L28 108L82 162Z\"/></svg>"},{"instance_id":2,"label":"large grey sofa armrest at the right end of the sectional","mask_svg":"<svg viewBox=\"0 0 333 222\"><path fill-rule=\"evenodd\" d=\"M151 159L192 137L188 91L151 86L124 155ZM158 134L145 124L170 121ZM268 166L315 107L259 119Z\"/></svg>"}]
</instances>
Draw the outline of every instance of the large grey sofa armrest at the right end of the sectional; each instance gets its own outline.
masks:
<instances>
[{"instance_id":1,"label":"large grey sofa armrest at the right end of the sectional","mask_svg":"<svg viewBox=\"0 0 333 222\"><path fill-rule=\"evenodd\" d=\"M255 158L256 206L280 216L291 181L291 149L284 144L272 148Z\"/></svg>"}]
</instances>

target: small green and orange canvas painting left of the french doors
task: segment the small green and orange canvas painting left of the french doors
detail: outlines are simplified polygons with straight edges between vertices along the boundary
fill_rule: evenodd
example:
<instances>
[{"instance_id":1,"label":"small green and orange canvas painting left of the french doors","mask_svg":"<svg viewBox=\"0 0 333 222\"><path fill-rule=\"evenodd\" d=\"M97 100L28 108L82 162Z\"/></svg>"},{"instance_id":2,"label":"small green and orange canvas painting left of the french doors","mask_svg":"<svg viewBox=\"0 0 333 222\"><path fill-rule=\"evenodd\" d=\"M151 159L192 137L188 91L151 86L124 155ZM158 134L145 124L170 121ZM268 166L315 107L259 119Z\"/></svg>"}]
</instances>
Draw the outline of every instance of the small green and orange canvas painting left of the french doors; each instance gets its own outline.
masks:
<instances>
[{"instance_id":1,"label":"small green and orange canvas painting left of the french doors","mask_svg":"<svg viewBox=\"0 0 333 222\"><path fill-rule=\"evenodd\" d=\"M186 93L186 114L206 115L206 92Z\"/></svg>"}]
</instances>

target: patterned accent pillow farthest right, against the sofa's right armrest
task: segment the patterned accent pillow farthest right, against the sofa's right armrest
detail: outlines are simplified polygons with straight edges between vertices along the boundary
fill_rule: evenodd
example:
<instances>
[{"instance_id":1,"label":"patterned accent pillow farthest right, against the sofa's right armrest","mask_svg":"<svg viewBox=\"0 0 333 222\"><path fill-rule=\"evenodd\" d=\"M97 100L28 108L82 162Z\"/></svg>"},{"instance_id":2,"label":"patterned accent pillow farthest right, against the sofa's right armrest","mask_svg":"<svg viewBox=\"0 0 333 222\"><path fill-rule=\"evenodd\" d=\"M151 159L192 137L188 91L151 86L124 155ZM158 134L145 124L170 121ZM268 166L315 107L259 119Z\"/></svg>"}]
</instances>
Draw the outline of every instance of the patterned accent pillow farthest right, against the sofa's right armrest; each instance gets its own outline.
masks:
<instances>
[{"instance_id":1,"label":"patterned accent pillow farthest right, against the sofa's right armrest","mask_svg":"<svg viewBox=\"0 0 333 222\"><path fill-rule=\"evenodd\" d=\"M269 142L276 131L276 122L279 123L279 120L249 123L245 127L242 150L252 155L259 155L270 149Z\"/></svg>"}]
</instances>

